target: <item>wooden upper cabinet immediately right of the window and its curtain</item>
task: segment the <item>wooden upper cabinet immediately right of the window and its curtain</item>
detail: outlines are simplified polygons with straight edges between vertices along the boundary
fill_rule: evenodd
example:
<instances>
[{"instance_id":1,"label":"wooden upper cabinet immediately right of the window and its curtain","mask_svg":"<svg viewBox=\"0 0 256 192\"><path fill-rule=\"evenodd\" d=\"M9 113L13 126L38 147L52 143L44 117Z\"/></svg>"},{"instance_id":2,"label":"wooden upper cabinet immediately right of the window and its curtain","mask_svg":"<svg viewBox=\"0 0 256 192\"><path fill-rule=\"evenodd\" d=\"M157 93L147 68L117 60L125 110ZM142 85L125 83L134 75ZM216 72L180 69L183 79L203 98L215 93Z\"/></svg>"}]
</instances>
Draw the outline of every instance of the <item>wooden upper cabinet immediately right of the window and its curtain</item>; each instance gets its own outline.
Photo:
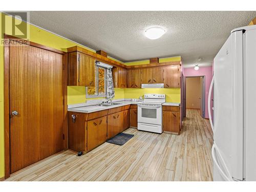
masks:
<instances>
[{"instance_id":1,"label":"wooden upper cabinet immediately right of the window and its curtain","mask_svg":"<svg viewBox=\"0 0 256 192\"><path fill-rule=\"evenodd\" d=\"M114 88L127 87L127 70L124 68L115 67L112 69Z\"/></svg>"}]
</instances>

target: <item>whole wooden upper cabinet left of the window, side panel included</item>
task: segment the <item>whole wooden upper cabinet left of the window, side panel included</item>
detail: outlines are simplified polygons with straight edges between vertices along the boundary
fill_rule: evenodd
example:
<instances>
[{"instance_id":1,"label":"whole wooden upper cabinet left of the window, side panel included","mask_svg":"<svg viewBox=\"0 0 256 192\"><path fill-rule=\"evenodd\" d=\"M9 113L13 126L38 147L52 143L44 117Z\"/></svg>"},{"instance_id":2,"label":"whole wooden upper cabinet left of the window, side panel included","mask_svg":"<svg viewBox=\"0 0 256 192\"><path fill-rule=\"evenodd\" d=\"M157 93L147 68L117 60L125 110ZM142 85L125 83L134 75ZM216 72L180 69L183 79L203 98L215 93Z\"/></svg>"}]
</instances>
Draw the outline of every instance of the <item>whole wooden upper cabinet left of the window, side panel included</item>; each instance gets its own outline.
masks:
<instances>
[{"instance_id":1,"label":"whole wooden upper cabinet left of the window, side panel included","mask_svg":"<svg viewBox=\"0 0 256 192\"><path fill-rule=\"evenodd\" d=\"M80 52L68 53L68 86L95 86L95 59Z\"/></svg>"}]
</instances>

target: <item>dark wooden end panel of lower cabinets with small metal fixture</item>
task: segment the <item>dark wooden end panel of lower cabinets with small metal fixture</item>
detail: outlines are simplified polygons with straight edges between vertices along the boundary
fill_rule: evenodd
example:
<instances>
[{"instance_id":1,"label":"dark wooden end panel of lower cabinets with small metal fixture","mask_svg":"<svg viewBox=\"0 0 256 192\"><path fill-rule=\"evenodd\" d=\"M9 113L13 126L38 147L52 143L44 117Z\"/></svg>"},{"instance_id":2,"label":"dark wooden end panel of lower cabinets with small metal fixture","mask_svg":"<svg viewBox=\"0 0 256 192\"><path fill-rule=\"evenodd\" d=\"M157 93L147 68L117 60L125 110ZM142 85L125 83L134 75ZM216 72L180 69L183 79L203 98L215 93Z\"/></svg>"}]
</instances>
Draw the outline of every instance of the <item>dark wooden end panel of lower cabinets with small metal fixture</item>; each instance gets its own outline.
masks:
<instances>
[{"instance_id":1,"label":"dark wooden end panel of lower cabinets with small metal fixture","mask_svg":"<svg viewBox=\"0 0 256 192\"><path fill-rule=\"evenodd\" d=\"M68 112L69 148L73 151L86 151L87 113ZM72 116L75 117L73 120Z\"/></svg>"}]
</instances>

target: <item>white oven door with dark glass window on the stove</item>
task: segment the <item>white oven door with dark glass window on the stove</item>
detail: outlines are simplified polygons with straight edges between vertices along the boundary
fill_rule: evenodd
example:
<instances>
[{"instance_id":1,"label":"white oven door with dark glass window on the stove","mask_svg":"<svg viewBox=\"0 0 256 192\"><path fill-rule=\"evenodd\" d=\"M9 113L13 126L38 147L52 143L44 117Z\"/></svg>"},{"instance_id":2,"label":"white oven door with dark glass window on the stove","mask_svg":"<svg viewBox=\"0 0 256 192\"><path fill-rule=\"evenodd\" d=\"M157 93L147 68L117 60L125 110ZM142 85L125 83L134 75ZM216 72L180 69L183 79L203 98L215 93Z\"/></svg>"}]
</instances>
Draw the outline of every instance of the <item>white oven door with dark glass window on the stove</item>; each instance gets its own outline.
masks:
<instances>
[{"instance_id":1,"label":"white oven door with dark glass window on the stove","mask_svg":"<svg viewBox=\"0 0 256 192\"><path fill-rule=\"evenodd\" d=\"M138 122L162 124L162 105L138 104Z\"/></svg>"}]
</instances>

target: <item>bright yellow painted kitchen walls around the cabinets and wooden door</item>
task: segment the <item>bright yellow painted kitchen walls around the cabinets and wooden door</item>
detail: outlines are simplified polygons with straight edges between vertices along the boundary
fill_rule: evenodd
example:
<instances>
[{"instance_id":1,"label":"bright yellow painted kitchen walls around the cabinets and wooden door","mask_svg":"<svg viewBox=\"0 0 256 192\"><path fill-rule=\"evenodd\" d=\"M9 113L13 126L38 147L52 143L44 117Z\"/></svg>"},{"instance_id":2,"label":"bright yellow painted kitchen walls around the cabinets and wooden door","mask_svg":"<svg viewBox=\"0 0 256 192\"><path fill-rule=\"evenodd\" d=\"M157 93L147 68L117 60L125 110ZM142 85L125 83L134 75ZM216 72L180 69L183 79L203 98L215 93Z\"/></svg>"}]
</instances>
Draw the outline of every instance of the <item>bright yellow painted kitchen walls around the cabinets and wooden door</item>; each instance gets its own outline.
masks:
<instances>
[{"instance_id":1,"label":"bright yellow painted kitchen walls around the cabinets and wooden door","mask_svg":"<svg viewBox=\"0 0 256 192\"><path fill-rule=\"evenodd\" d=\"M4 13L0 13L0 22L1 17ZM7 23L7 25L11 25ZM0 25L1 26L1 25ZM75 42L72 42L68 39L62 38L35 26L29 25L30 28L30 37L29 40L36 42L37 44L45 45L47 47L52 47L57 50L67 51L67 48L73 46L80 46ZM1 27L0 27L1 30ZM0 34L2 36L2 31ZM7 33L8 34L8 33ZM1 39L2 40L2 39ZM80 46L83 47L83 46ZM83 47L89 49L87 47ZM90 49L89 49L90 50ZM180 56L178 57L180 58ZM169 58L178 59L178 58ZM113 59L113 58L111 58ZM167 58L160 59L161 62L169 61ZM165 60L165 61L163 61ZM136 64L136 62L138 64ZM125 65L139 65L149 63L147 61L136 61L125 63ZM144 93L163 93L167 96L168 102L180 102L180 89L115 89L115 99L119 98L139 98L140 95ZM0 178L4 177L4 47L0 46ZM68 87L68 104L85 102L85 88L84 87Z\"/></svg>"}]
</instances>

